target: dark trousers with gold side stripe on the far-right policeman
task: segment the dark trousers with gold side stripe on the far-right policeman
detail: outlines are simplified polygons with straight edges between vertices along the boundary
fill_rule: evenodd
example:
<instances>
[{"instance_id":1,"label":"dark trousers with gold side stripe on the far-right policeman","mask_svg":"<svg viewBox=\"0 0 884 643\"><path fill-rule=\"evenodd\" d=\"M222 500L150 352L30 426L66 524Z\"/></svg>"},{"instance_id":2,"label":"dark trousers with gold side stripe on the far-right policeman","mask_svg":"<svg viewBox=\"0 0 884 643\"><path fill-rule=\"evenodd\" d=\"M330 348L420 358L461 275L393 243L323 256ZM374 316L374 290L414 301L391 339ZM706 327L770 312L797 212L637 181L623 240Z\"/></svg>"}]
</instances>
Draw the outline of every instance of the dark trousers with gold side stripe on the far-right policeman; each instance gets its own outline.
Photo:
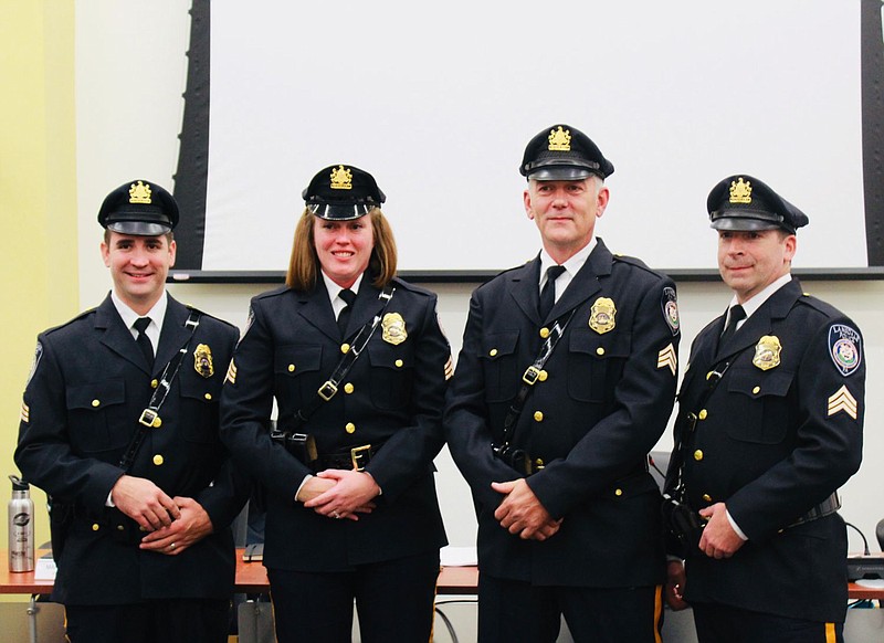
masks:
<instances>
[{"instance_id":1,"label":"dark trousers with gold side stripe on the far-right policeman","mask_svg":"<svg viewBox=\"0 0 884 643\"><path fill-rule=\"evenodd\" d=\"M844 623L823 623L693 603L699 643L844 643Z\"/></svg>"}]
</instances>

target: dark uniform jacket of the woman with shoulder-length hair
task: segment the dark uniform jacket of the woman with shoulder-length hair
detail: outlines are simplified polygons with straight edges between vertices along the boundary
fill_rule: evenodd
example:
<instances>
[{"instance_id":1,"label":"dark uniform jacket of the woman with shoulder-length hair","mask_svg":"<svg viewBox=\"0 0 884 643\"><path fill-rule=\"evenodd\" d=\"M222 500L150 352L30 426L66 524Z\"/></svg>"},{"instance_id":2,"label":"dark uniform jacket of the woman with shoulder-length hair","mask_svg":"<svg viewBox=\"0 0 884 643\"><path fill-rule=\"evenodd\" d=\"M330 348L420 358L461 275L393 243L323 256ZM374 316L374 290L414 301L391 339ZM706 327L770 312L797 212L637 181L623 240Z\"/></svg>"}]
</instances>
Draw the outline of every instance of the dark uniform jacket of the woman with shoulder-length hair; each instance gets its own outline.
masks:
<instances>
[{"instance_id":1,"label":"dark uniform jacket of the woman with shoulder-length hair","mask_svg":"<svg viewBox=\"0 0 884 643\"><path fill-rule=\"evenodd\" d=\"M345 333L350 340L383 309L370 281L366 273L352 303ZM385 320L337 393L298 429L315 438L320 457L367 445L377 450L366 471L382 494L358 521L329 519L297 503L298 486L314 472L269 434L273 400L277 428L291 430L295 413L315 400L343 357L327 289L320 281L309 292L281 288L252 299L250 325L223 390L221 424L231 452L267 492L269 568L343 571L445 544L432 461L443 444L450 348L436 320L435 295L398 278L392 286ZM389 325L394 314L402 317L404 334Z\"/></svg>"}]
</instances>

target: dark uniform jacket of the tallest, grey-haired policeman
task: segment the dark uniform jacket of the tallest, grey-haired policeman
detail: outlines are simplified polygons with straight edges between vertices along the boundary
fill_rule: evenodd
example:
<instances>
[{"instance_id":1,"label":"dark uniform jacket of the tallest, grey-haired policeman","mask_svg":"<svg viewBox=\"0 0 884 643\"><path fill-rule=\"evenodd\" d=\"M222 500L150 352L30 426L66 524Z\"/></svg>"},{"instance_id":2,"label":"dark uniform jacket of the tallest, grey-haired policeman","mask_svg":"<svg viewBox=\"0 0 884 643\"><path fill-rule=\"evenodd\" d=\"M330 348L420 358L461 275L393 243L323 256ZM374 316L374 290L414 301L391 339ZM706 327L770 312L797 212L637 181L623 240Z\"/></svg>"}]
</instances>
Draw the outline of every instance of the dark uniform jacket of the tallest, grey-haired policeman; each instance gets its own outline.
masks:
<instances>
[{"instance_id":1,"label":"dark uniform jacket of the tallest, grey-haired policeman","mask_svg":"<svg viewBox=\"0 0 884 643\"><path fill-rule=\"evenodd\" d=\"M674 285L638 260L612 256L598 240L541 319L539 266L538 257L473 293L448 394L446 439L472 487L480 569L536 584L661 583L660 493L645 458L675 397ZM599 307L604 298L615 307L609 324ZM491 483L524 475L496 458L491 445L502 440L504 418L540 350L541 334L571 309L514 440L543 466L528 477L532 491L564 521L548 540L522 540L494 518L502 496Z\"/></svg>"}]
</instances>

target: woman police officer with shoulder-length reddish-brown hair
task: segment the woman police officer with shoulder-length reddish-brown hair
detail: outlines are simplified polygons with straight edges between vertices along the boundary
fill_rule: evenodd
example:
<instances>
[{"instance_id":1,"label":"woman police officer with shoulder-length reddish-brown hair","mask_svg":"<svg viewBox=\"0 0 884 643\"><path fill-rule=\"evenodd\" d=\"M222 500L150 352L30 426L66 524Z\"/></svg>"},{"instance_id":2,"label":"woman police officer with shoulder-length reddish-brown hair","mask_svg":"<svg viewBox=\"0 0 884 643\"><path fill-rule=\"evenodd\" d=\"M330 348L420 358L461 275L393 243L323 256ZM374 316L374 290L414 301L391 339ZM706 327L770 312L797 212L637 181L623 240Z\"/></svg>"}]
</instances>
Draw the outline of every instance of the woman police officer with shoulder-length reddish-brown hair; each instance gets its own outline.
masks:
<instances>
[{"instance_id":1,"label":"woman police officer with shoulder-length reddish-brown hair","mask_svg":"<svg viewBox=\"0 0 884 643\"><path fill-rule=\"evenodd\" d=\"M303 196L286 287L252 299L221 404L224 442L266 491L276 635L349 641L355 600L361 641L424 642L445 544L436 297L394 276L371 175L332 166Z\"/></svg>"}]
</instances>

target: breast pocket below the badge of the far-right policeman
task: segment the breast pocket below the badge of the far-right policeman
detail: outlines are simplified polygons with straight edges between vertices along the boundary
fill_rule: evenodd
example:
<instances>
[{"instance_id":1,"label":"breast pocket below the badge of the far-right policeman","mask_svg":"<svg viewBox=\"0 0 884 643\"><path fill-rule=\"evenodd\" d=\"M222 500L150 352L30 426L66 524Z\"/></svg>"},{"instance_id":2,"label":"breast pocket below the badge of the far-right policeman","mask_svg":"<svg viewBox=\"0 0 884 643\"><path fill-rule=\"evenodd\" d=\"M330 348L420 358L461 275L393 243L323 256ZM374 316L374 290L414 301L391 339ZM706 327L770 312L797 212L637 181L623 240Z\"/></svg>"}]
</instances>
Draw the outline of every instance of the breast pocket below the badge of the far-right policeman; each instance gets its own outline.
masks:
<instances>
[{"instance_id":1,"label":"breast pocket below the badge of the far-right policeman","mask_svg":"<svg viewBox=\"0 0 884 643\"><path fill-rule=\"evenodd\" d=\"M727 423L727 434L757 444L782 442L790 423L787 396L793 379L794 373L786 370L732 367L727 413L735 420Z\"/></svg>"}]
</instances>

